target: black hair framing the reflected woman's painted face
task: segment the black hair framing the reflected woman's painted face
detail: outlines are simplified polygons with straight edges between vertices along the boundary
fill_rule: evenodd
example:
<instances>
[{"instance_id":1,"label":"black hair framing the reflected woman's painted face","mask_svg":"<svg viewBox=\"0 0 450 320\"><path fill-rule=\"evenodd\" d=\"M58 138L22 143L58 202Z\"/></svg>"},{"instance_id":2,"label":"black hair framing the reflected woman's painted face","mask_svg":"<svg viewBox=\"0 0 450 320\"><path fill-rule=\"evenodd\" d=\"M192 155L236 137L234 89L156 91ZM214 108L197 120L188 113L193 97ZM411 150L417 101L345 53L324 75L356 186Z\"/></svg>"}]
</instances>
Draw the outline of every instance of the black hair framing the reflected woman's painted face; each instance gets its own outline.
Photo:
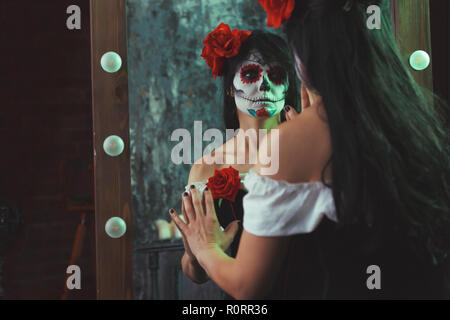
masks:
<instances>
[{"instance_id":1,"label":"black hair framing the reflected woman's painted face","mask_svg":"<svg viewBox=\"0 0 450 320\"><path fill-rule=\"evenodd\" d=\"M257 50L266 64L277 63L286 70L289 80L289 88L286 93L285 103L291 106L298 106L300 91L295 75L292 56L286 41L278 35L254 30L248 39L242 44L239 53L225 60L223 66L223 118L227 129L238 129L239 119L237 116L236 103L230 96L230 88L238 66L250 56L253 50ZM284 111L282 111L282 121Z\"/></svg>"}]
</instances>

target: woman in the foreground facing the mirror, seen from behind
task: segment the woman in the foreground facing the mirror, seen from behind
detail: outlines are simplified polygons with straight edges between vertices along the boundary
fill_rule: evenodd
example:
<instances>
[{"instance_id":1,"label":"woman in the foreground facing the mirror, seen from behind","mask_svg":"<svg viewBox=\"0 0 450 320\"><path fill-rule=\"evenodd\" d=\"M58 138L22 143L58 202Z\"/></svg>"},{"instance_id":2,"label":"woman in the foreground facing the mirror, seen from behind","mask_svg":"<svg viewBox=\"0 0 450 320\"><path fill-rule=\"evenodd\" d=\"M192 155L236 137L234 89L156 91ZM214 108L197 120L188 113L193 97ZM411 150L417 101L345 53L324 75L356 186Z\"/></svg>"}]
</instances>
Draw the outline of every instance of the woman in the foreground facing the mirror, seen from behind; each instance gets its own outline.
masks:
<instances>
[{"instance_id":1,"label":"woman in the foreground facing the mirror, seen from behind","mask_svg":"<svg viewBox=\"0 0 450 320\"><path fill-rule=\"evenodd\" d=\"M442 298L448 137L401 62L390 15L374 31L365 12L379 1L260 3L269 24L288 19L310 105L278 127L278 173L249 171L235 259L220 250L210 192L204 208L195 189L183 197L187 223L171 210L193 254L236 298Z\"/></svg>"}]
</instances>

